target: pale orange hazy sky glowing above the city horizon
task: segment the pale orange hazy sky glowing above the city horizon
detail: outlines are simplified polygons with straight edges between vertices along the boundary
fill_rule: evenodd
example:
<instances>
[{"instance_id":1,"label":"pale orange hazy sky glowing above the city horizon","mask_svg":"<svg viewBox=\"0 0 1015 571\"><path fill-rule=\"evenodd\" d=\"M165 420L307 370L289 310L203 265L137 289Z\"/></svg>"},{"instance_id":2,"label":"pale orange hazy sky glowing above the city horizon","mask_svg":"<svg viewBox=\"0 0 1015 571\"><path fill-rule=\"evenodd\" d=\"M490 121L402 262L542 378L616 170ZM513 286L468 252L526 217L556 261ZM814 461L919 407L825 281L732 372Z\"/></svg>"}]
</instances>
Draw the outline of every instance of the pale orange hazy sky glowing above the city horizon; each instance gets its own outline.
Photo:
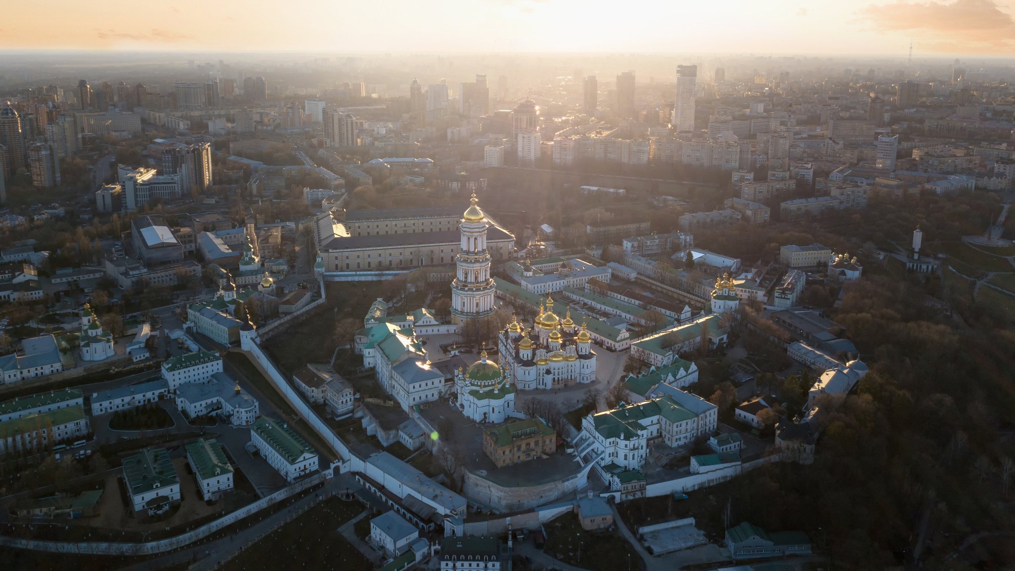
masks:
<instances>
[{"instance_id":1,"label":"pale orange hazy sky glowing above the city horizon","mask_svg":"<svg viewBox=\"0 0 1015 571\"><path fill-rule=\"evenodd\" d=\"M41 7L40 7L41 8ZM1015 0L47 0L0 48L1015 56ZM38 14L37 14L38 15Z\"/></svg>"}]
</instances>

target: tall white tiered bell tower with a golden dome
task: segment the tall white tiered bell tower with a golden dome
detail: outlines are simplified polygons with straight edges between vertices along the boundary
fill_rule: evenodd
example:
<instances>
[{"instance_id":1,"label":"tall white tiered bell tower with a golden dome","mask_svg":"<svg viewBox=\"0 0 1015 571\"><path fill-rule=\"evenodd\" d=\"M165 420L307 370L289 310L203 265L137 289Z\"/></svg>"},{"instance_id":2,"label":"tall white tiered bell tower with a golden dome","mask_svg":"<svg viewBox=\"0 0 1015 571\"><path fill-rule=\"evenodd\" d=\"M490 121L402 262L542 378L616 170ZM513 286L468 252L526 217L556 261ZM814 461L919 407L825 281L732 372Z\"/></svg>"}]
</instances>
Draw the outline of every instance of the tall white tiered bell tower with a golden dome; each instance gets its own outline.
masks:
<instances>
[{"instance_id":1,"label":"tall white tiered bell tower with a golden dome","mask_svg":"<svg viewBox=\"0 0 1015 571\"><path fill-rule=\"evenodd\" d=\"M477 205L479 199L472 194L472 204L462 214L459 230L462 242L455 257L456 275L451 284L451 312L456 322L463 319L486 317L494 311L493 278L490 276L490 254L486 250L486 214Z\"/></svg>"}]
</instances>

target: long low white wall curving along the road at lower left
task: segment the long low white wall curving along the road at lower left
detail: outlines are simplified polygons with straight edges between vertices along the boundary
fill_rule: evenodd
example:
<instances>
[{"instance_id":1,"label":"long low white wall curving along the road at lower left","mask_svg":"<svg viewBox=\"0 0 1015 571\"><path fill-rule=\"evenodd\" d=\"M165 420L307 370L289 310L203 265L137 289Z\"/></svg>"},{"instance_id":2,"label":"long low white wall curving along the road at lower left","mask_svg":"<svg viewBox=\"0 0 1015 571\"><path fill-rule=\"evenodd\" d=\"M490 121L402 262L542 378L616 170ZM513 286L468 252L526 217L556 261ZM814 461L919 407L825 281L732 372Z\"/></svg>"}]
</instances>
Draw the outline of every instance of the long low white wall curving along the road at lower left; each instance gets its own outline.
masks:
<instances>
[{"instance_id":1,"label":"long low white wall curving along the road at lower left","mask_svg":"<svg viewBox=\"0 0 1015 571\"><path fill-rule=\"evenodd\" d=\"M279 490L271 496L261 498L253 504L244 506L236 511L206 523L193 531L182 535L147 542L143 544L105 543L105 542L48 542L40 540L22 540L19 537L0 536L0 546L22 550L45 551L52 553L74 553L85 555L121 555L139 556L153 555L186 547L198 540L231 525L241 519L253 515L264 508L276 504L293 494L298 494L308 488L321 484L331 475L331 472L318 472L307 480L301 480L284 490Z\"/></svg>"}]
</instances>

